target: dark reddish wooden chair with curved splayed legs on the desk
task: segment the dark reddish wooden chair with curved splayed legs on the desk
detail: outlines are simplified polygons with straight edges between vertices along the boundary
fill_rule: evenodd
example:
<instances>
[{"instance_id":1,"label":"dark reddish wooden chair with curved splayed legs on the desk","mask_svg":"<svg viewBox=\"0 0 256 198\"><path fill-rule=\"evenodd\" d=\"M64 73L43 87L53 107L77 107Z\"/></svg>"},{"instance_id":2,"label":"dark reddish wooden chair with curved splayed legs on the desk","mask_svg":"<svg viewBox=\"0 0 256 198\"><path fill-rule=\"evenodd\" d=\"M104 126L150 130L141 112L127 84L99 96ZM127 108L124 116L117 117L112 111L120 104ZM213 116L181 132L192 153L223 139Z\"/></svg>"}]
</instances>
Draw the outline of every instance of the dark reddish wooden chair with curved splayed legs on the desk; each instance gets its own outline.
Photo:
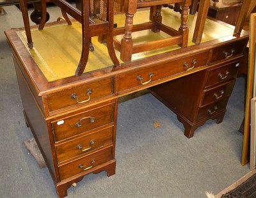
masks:
<instances>
[{"instance_id":1,"label":"dark reddish wooden chair with curved splayed legs on the desk","mask_svg":"<svg viewBox=\"0 0 256 198\"><path fill-rule=\"evenodd\" d=\"M99 36L102 34L106 34L107 36L107 47L109 56L111 57L113 64L115 66L119 66L120 63L115 55L115 49L113 46L113 1L106 0L106 11L108 13L108 17L106 20L102 22L95 22L90 18L90 0L83 0L81 1L81 11L72 6L65 0L52 0L54 4L61 8L61 12L63 13L63 17L68 21L67 14L68 13L71 17L76 19L82 24L82 52L81 52L81 59L79 61L79 65L77 66L76 76L80 76L86 63L88 61L88 55L90 51L90 41L93 36ZM28 8L26 6L26 0L20 0L20 8L22 11L22 17L24 20L24 27L26 31L26 36L28 39L28 47L33 47L33 42L31 38L31 30L29 26L29 19L28 19ZM42 0L42 20L38 29L44 29L46 19L46 3L45 0Z\"/></svg>"}]
</instances>

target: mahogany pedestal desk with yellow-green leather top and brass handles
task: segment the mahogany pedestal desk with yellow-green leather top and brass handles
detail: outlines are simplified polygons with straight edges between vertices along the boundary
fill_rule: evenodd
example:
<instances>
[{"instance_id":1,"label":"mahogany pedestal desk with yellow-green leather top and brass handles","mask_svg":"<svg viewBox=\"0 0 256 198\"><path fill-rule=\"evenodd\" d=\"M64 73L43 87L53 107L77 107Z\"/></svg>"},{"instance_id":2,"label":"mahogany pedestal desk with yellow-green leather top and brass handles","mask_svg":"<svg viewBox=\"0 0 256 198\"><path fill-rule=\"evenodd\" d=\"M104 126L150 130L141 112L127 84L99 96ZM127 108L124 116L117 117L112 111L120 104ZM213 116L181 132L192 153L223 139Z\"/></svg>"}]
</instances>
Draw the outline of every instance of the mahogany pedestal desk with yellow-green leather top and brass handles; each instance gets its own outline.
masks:
<instances>
[{"instance_id":1,"label":"mahogany pedestal desk with yellow-green leather top and brass handles","mask_svg":"<svg viewBox=\"0 0 256 198\"><path fill-rule=\"evenodd\" d=\"M191 15L189 24L195 24ZM81 77L74 76L81 52L79 23L51 24L44 31L32 29L35 47L30 50L23 29L6 31L26 123L59 197L65 197L67 189L86 174L115 174L120 96L150 88L177 114L187 137L207 119L216 118L220 123L248 42L246 31L233 31L227 24L207 20L202 43L134 54L134 61L116 68L95 38L95 51Z\"/></svg>"}]
</instances>

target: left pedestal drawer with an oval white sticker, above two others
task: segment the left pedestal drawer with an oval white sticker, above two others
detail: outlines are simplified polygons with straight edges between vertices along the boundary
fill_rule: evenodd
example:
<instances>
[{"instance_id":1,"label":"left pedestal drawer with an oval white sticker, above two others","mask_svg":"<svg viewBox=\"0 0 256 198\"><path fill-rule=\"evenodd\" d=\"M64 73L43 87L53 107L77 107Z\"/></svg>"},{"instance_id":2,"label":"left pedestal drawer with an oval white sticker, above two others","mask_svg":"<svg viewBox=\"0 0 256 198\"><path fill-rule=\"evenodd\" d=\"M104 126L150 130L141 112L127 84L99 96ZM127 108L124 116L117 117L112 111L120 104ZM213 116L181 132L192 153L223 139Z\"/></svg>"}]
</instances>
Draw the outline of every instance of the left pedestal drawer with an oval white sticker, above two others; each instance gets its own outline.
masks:
<instances>
[{"instance_id":1,"label":"left pedestal drawer with an oval white sticker, above two others","mask_svg":"<svg viewBox=\"0 0 256 198\"><path fill-rule=\"evenodd\" d=\"M52 122L55 141L107 125L114 121L115 103Z\"/></svg>"}]
</instances>

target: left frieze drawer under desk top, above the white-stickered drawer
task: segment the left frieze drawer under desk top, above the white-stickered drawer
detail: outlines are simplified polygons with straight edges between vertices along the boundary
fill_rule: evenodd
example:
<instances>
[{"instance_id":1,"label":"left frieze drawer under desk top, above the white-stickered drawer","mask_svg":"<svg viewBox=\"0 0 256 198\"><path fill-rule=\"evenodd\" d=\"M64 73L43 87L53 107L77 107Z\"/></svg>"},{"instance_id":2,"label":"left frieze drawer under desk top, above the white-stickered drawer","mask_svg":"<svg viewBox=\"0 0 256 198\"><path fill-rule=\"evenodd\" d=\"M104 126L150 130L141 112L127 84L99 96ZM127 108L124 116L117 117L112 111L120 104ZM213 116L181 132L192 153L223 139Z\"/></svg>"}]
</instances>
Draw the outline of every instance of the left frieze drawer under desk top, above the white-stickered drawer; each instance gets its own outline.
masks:
<instances>
[{"instance_id":1,"label":"left frieze drawer under desk top, above the white-stickered drawer","mask_svg":"<svg viewBox=\"0 0 256 198\"><path fill-rule=\"evenodd\" d=\"M112 94L113 79L109 78L53 93L47 96L47 103L51 112L70 105L86 104L97 98Z\"/></svg>"}]
</instances>

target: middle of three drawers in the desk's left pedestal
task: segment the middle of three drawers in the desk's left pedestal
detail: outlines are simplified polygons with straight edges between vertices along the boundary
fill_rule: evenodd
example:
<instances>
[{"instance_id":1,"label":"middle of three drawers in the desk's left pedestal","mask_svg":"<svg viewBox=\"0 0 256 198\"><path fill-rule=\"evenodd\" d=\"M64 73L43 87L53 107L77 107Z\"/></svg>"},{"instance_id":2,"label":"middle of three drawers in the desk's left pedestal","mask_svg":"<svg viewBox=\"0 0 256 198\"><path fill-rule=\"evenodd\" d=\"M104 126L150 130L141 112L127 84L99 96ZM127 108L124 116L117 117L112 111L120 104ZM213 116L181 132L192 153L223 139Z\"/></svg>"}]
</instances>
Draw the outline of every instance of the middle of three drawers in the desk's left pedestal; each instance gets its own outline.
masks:
<instances>
[{"instance_id":1,"label":"middle of three drawers in the desk's left pedestal","mask_svg":"<svg viewBox=\"0 0 256 198\"><path fill-rule=\"evenodd\" d=\"M107 144L113 144L113 131L114 128L112 126L56 146L58 163L74 156L83 155Z\"/></svg>"}]
</instances>

